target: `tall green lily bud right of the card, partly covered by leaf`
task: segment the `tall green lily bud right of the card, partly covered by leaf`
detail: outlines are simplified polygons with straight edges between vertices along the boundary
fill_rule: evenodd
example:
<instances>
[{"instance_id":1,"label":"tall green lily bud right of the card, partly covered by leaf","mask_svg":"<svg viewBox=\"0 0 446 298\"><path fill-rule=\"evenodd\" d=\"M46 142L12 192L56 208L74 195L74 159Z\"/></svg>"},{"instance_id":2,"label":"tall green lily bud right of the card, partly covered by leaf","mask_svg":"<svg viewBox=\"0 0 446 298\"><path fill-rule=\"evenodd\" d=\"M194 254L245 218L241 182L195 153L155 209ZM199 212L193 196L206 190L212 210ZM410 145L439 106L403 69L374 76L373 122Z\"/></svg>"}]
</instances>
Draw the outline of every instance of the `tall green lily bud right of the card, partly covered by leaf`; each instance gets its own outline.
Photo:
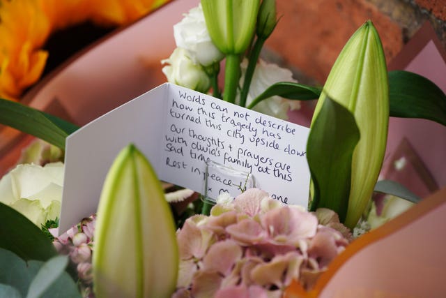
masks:
<instances>
[{"instance_id":1,"label":"tall green lily bud right of the card, partly covered by leaf","mask_svg":"<svg viewBox=\"0 0 446 298\"><path fill-rule=\"evenodd\" d=\"M378 179L389 122L389 85L383 46L370 21L353 34L339 54L316 105L313 122L327 96L346 107L360 129L361 138L353 152L345 222L353 228L367 207Z\"/></svg>"}]
</instances>

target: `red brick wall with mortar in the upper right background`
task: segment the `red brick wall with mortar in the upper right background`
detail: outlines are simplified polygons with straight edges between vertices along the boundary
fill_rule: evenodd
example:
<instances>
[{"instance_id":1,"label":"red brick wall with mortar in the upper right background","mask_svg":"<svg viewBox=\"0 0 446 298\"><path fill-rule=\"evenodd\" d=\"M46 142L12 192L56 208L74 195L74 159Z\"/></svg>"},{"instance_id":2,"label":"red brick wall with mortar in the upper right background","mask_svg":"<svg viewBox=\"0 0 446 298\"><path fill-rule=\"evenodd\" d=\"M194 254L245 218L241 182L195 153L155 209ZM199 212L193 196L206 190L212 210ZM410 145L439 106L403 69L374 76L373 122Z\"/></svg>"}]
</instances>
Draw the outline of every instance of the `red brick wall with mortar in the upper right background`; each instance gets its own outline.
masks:
<instances>
[{"instance_id":1,"label":"red brick wall with mortar in the upper right background","mask_svg":"<svg viewBox=\"0 0 446 298\"><path fill-rule=\"evenodd\" d=\"M282 16L263 58L291 68L308 84L323 84L341 48L366 20L383 42L387 63L431 22L446 47L446 0L277 0Z\"/></svg>"}]
</instances>

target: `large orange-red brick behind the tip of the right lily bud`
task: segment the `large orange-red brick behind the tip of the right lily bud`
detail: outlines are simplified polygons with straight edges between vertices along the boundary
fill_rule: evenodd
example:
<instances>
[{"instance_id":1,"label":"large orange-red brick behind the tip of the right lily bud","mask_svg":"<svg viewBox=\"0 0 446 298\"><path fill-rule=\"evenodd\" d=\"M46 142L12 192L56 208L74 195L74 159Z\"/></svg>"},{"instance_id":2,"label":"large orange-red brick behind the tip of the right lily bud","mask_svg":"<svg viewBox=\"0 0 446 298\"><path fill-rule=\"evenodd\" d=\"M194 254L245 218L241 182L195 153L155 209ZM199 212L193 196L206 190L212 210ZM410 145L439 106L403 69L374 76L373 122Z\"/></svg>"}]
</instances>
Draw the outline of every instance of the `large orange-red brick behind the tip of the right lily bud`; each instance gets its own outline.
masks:
<instances>
[{"instance_id":1,"label":"large orange-red brick behind the tip of the right lily bud","mask_svg":"<svg viewBox=\"0 0 446 298\"><path fill-rule=\"evenodd\" d=\"M277 14L282 18L266 45L321 84L348 38L367 20L380 34L387 62L403 45L398 24L365 0L278 0Z\"/></svg>"}]
</instances>

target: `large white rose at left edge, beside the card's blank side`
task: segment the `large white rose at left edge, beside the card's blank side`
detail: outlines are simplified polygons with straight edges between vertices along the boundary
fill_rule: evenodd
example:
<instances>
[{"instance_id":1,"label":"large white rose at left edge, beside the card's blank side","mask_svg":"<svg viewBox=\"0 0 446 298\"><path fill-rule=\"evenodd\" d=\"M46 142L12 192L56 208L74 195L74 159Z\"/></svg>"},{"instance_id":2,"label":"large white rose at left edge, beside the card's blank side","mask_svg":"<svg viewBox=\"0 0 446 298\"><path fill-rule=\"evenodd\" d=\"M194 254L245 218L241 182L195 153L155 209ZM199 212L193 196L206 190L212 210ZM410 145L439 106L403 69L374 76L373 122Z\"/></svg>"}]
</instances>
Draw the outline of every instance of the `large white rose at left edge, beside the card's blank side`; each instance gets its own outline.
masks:
<instances>
[{"instance_id":1,"label":"large white rose at left edge, beside the card's blank side","mask_svg":"<svg viewBox=\"0 0 446 298\"><path fill-rule=\"evenodd\" d=\"M39 228L59 217L63 163L17 165L0 179L0 202L16 209Z\"/></svg>"}]
</instances>

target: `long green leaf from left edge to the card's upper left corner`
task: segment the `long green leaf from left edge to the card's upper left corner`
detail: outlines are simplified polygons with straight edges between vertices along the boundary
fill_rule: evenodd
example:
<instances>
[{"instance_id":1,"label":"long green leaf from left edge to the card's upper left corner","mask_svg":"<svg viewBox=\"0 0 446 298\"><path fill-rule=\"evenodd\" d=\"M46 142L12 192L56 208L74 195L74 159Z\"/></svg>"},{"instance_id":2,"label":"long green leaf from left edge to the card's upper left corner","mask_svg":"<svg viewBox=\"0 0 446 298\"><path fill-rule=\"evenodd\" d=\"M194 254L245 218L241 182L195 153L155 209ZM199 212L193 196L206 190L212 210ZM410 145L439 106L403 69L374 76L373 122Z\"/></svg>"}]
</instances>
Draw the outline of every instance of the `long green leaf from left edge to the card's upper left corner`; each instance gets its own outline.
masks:
<instances>
[{"instance_id":1,"label":"long green leaf from left edge to the card's upper left corner","mask_svg":"<svg viewBox=\"0 0 446 298\"><path fill-rule=\"evenodd\" d=\"M21 103L0 98L0 124L11 126L65 149L65 139L77 126Z\"/></svg>"}]
</instances>

